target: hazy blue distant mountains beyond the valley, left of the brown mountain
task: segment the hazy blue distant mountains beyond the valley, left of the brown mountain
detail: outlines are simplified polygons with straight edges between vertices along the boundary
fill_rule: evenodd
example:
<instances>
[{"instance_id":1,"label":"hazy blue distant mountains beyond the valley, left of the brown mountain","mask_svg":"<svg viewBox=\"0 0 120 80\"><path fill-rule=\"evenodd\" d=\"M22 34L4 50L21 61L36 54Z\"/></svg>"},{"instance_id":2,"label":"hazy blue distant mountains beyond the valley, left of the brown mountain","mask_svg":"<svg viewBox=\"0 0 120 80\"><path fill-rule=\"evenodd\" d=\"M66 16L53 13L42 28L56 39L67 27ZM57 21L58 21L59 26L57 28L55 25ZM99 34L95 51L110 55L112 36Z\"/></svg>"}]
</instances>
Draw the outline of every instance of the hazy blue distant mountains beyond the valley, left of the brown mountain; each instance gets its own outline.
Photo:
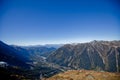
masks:
<instances>
[{"instance_id":1,"label":"hazy blue distant mountains beyond the valley, left of the brown mountain","mask_svg":"<svg viewBox=\"0 0 120 80\"><path fill-rule=\"evenodd\" d=\"M43 46L16 46L10 45L16 51L19 51L21 56L31 61L44 61L53 51L56 50L54 47L43 47Z\"/></svg>"}]
</instances>

